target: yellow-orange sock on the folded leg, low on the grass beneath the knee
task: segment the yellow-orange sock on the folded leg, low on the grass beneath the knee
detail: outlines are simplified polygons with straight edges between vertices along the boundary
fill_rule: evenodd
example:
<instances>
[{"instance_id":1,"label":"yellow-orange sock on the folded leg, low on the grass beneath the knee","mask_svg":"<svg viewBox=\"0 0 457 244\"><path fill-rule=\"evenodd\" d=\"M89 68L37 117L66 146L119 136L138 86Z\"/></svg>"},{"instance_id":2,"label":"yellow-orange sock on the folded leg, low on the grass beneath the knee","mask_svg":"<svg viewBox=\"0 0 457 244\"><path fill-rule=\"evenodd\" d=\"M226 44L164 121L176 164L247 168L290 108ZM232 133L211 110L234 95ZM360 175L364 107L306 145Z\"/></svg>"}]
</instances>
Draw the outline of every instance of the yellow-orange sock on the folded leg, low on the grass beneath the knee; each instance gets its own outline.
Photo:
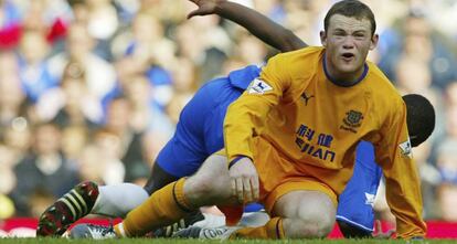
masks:
<instances>
[{"instance_id":1,"label":"yellow-orange sock on the folded leg, low on the grass beneath the knee","mask_svg":"<svg viewBox=\"0 0 457 244\"><path fill-rule=\"evenodd\" d=\"M264 226L243 227L235 231L230 238L284 238L283 220L273 218Z\"/></svg>"}]
</instances>

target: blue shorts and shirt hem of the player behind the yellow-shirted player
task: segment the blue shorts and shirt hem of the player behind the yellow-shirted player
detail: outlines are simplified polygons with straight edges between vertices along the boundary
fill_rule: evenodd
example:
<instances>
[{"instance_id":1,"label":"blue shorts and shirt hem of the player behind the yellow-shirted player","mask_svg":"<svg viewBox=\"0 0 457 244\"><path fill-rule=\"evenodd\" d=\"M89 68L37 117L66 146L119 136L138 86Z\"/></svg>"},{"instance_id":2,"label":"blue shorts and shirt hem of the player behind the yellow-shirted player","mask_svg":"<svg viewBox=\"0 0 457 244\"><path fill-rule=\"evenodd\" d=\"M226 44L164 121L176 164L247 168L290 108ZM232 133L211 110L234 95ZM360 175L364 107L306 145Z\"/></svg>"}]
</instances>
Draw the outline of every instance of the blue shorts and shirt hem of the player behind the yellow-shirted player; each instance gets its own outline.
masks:
<instances>
[{"instance_id":1,"label":"blue shorts and shirt hem of the player behind the yellow-shirted player","mask_svg":"<svg viewBox=\"0 0 457 244\"><path fill-rule=\"evenodd\" d=\"M208 157L224 147L227 107L259 73L258 66L249 65L204 84L182 109L177 130L159 152L157 163L178 178L196 172Z\"/></svg>"}]
</instances>

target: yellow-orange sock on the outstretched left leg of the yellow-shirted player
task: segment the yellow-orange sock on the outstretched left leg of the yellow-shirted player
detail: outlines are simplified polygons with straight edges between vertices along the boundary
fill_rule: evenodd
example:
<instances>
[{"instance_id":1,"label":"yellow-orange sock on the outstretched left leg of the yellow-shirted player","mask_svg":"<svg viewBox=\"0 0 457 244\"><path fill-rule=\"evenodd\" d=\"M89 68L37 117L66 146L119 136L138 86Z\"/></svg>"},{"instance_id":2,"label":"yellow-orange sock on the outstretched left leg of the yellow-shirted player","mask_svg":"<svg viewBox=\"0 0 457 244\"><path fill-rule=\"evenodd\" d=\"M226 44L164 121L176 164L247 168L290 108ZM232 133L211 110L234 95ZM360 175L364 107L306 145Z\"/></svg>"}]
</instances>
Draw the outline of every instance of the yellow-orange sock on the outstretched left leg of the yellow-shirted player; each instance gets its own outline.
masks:
<instances>
[{"instance_id":1,"label":"yellow-orange sock on the outstretched left leg of the yellow-shirted player","mask_svg":"<svg viewBox=\"0 0 457 244\"><path fill-rule=\"evenodd\" d=\"M195 208L184 198L184 181L182 178L152 193L141 205L129 212L124 222L115 225L116 234L142 236L192 213Z\"/></svg>"}]
</instances>

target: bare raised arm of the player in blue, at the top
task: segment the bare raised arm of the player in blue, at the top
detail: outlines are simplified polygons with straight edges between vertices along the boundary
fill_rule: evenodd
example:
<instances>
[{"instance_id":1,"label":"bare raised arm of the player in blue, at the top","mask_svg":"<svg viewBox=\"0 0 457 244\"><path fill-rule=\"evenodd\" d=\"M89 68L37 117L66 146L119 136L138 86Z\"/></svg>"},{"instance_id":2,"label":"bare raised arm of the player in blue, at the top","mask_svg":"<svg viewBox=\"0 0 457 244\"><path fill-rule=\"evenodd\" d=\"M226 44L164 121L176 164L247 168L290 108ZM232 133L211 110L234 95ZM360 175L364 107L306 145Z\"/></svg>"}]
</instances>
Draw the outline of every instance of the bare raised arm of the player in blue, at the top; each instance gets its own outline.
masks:
<instances>
[{"instance_id":1,"label":"bare raised arm of the player in blue, at the top","mask_svg":"<svg viewBox=\"0 0 457 244\"><path fill-rule=\"evenodd\" d=\"M215 13L244 26L253 35L281 52L308 46L290 30L275 23L262 13L238 3L226 0L190 1L194 2L199 9L189 13L188 18Z\"/></svg>"}]
</instances>

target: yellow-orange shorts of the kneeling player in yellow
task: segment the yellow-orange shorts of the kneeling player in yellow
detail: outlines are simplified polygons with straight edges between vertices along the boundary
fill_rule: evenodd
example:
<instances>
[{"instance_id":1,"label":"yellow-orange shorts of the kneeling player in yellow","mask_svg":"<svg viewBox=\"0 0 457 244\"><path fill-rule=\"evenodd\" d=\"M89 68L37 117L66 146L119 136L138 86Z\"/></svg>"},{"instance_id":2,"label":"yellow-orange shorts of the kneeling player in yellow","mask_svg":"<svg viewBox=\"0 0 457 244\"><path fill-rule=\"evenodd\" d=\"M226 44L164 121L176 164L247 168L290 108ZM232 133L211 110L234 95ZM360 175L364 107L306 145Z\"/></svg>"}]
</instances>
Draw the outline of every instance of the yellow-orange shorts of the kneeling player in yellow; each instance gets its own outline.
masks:
<instances>
[{"instance_id":1,"label":"yellow-orange shorts of the kneeling player in yellow","mask_svg":"<svg viewBox=\"0 0 457 244\"><path fill-rule=\"evenodd\" d=\"M298 171L295 165L281 157L268 141L256 139L255 144L257 151L262 151L262 153L254 151L254 165L257 169L261 190L259 202L264 204L269 214L276 201L293 191L319 191L328 195L334 206L338 205L337 193L325 181ZM225 149L215 155L226 157ZM224 210L222 211L225 213Z\"/></svg>"}]
</instances>

